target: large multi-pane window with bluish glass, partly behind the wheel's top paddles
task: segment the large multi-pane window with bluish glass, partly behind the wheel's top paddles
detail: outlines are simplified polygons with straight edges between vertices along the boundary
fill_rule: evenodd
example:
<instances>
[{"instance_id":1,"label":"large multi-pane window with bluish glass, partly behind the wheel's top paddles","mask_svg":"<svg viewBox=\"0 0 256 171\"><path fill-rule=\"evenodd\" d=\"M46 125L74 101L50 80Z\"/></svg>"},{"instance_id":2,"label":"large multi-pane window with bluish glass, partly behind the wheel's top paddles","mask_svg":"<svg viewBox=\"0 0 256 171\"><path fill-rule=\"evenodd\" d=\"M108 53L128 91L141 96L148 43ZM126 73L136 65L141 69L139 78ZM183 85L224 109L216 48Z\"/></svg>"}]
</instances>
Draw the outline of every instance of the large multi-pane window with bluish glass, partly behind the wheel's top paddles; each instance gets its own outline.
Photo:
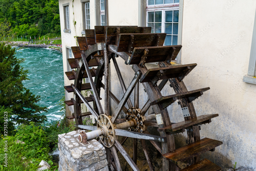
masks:
<instances>
[{"instance_id":1,"label":"large multi-pane window with bluish glass, partly behind the wheel's top paddles","mask_svg":"<svg viewBox=\"0 0 256 171\"><path fill-rule=\"evenodd\" d=\"M151 33L166 33L164 45L177 45L179 0L148 0L147 26Z\"/></svg>"}]
</instances>

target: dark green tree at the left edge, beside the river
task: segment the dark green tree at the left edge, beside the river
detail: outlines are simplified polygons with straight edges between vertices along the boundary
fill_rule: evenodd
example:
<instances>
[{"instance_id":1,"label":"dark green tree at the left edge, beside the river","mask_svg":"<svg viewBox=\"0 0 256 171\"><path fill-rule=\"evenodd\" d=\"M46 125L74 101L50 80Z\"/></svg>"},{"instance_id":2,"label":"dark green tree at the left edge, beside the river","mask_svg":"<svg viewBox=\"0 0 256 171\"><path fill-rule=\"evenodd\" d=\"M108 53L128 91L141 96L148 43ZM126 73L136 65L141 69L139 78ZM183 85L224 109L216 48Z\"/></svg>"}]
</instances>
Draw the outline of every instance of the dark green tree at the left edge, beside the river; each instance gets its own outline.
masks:
<instances>
[{"instance_id":1,"label":"dark green tree at the left edge, beside the river","mask_svg":"<svg viewBox=\"0 0 256 171\"><path fill-rule=\"evenodd\" d=\"M0 42L0 106L12 109L10 120L17 124L43 123L46 116L40 113L47 108L37 105L40 96L24 87L22 81L28 80L28 70L20 66L23 61L15 57L15 48Z\"/></svg>"}]
</instances>

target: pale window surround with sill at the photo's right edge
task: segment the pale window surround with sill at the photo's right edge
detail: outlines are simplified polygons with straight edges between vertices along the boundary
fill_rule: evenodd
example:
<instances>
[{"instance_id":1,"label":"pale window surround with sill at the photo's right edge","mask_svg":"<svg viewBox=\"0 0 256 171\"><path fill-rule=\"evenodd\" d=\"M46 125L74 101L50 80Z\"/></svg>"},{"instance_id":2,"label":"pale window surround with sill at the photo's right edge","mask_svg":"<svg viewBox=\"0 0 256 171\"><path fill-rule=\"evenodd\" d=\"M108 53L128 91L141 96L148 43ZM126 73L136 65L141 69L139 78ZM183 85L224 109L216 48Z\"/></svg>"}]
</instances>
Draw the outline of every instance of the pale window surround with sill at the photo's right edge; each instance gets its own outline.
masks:
<instances>
[{"instance_id":1,"label":"pale window surround with sill at the photo's right edge","mask_svg":"<svg viewBox=\"0 0 256 171\"><path fill-rule=\"evenodd\" d=\"M254 26L252 32L252 45L249 60L248 73L243 77L243 82L256 84L256 11L254 17Z\"/></svg>"}]
</instances>

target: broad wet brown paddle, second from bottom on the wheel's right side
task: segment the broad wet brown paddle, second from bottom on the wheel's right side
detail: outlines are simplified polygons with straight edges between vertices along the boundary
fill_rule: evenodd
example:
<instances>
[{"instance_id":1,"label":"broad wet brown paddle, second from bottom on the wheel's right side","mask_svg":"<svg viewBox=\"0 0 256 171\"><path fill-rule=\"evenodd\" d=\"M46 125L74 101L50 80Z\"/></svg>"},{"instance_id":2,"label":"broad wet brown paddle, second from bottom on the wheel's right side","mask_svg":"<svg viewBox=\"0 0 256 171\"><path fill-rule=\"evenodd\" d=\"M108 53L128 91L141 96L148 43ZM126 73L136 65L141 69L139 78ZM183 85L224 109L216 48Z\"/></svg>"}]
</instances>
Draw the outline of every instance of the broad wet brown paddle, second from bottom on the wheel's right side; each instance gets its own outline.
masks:
<instances>
[{"instance_id":1,"label":"broad wet brown paddle, second from bottom on the wheel's right side","mask_svg":"<svg viewBox=\"0 0 256 171\"><path fill-rule=\"evenodd\" d=\"M210 138L204 138L197 142L188 144L184 147L180 147L173 152L163 154L163 156L165 158L168 158L170 161L184 162L190 158L193 158L193 157L198 156L204 152L207 152L221 144L222 144L221 141L212 140Z\"/></svg>"}]
</instances>

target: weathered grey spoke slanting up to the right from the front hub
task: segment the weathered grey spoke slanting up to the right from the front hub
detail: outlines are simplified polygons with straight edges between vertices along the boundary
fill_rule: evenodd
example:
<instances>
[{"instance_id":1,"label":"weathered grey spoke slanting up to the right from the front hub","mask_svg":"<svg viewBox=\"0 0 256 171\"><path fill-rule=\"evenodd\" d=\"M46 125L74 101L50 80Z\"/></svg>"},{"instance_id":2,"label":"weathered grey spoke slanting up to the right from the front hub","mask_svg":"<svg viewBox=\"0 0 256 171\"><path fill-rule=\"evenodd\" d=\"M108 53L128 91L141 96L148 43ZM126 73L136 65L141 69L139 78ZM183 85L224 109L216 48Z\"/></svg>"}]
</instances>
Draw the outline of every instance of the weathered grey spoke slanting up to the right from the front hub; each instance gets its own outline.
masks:
<instances>
[{"instance_id":1,"label":"weathered grey spoke slanting up to the right from the front hub","mask_svg":"<svg viewBox=\"0 0 256 171\"><path fill-rule=\"evenodd\" d=\"M127 101L127 99L129 98L130 94L132 93L133 88L135 87L136 83L138 82L139 78L141 76L141 73L139 72L139 74L135 73L135 76L132 80L132 82L130 83L127 91L124 93L122 100L120 101L120 103L118 104L115 112L113 113L112 117L111 117L111 122L115 123L116 119L118 118L121 110L123 109L123 106L125 104L125 102Z\"/></svg>"}]
</instances>

